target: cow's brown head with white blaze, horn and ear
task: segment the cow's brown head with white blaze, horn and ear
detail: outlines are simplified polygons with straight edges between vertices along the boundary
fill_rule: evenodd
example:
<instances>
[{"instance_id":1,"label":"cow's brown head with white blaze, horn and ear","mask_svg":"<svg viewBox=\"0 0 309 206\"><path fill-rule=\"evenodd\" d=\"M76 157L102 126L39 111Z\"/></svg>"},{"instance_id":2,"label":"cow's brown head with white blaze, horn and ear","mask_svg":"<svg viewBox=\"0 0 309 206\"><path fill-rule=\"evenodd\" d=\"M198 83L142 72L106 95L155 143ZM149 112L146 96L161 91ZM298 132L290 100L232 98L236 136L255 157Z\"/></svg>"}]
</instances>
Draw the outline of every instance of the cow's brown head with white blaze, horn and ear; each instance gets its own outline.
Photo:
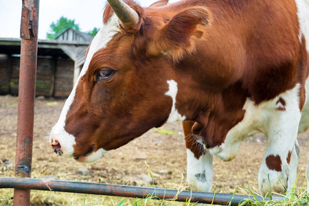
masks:
<instances>
[{"instance_id":1,"label":"cow's brown head with white blaze, horn and ear","mask_svg":"<svg viewBox=\"0 0 309 206\"><path fill-rule=\"evenodd\" d=\"M194 50L209 22L203 7L164 10L167 1L141 8L108 1L104 23L93 38L84 67L50 144L65 157L90 162L165 122L185 119L175 107L175 65ZM157 7L159 5L159 7ZM185 85L184 85L185 87Z\"/></svg>"}]
</instances>

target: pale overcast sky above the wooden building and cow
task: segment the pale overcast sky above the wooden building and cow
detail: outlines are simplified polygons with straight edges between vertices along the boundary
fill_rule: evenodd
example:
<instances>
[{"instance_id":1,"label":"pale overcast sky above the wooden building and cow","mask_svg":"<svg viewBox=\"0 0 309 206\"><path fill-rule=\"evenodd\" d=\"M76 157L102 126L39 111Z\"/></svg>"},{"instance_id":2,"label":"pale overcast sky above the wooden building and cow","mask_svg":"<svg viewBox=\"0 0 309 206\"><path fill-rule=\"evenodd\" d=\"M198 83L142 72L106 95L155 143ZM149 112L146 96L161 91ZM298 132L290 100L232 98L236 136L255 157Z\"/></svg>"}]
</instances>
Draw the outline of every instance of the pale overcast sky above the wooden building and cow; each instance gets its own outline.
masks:
<instances>
[{"instance_id":1,"label":"pale overcast sky above the wooden building and cow","mask_svg":"<svg viewBox=\"0 0 309 206\"><path fill-rule=\"evenodd\" d=\"M156 0L138 0L147 7ZM175 2L179 0L170 0ZM19 38L21 25L22 0L0 0L0 38ZM102 15L106 0L41 0L38 22L38 38L46 39L50 32L49 25L65 16L75 19L82 32L89 32L93 27L101 27Z\"/></svg>"}]
</instances>

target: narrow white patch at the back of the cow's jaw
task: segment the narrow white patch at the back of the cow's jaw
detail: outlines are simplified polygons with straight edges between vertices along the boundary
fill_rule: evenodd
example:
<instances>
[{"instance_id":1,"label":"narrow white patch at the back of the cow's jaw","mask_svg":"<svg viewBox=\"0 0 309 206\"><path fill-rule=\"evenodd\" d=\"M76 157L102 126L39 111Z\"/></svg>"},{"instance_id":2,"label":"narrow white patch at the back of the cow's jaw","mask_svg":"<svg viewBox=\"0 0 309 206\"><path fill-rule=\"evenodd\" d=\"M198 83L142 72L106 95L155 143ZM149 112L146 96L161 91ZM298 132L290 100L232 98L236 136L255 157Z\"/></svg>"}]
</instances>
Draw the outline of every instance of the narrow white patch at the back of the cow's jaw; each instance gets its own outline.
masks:
<instances>
[{"instance_id":1,"label":"narrow white patch at the back of the cow's jaw","mask_svg":"<svg viewBox=\"0 0 309 206\"><path fill-rule=\"evenodd\" d=\"M174 80L168 80L168 91L165 93L165 95L168 95L172 98L172 110L170 112L170 116L168 117L168 121L166 123L172 123L176 121L183 121L185 120L185 116L181 116L181 114L178 113L178 110L175 108L176 106L176 95L177 95L177 83Z\"/></svg>"}]
</instances>

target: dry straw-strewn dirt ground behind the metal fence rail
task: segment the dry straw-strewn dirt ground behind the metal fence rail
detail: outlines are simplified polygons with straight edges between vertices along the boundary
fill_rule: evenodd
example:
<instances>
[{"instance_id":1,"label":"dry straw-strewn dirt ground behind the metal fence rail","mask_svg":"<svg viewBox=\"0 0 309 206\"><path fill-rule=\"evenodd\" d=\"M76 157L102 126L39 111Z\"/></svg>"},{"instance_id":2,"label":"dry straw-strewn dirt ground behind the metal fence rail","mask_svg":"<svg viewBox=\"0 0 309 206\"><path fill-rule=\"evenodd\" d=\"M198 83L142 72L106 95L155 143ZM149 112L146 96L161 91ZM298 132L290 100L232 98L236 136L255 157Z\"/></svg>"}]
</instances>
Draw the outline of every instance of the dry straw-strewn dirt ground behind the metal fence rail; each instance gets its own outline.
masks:
<instances>
[{"instance_id":1,"label":"dry straw-strewn dirt ground behind the metal fence rail","mask_svg":"<svg viewBox=\"0 0 309 206\"><path fill-rule=\"evenodd\" d=\"M49 148L47 140L49 130L58 120L64 102L64 100L36 98L32 177L151 187L152 183L148 178L148 171L151 170L155 178L155 187L171 189L185 187L186 152L181 122L160 128L160 130L172 131L172 134L159 133L158 130L152 129L128 145L108 152L95 163L78 163L72 159L58 157ZM3 162L14 163L15 160L17 104L17 97L0 96L0 159L2 161L0 161L0 176L14 176L14 166ZM309 150L308 135L308 131L299 135L301 172L297 182L298 188L301 188L305 182L304 170L306 170ZM213 190L230 193L234 192L237 185L241 185L258 192L258 170L265 148L264 137L255 135L242 143L236 159L223 162L214 157ZM80 169L87 171L82 174ZM183 181L182 185L181 181ZM238 194L247 194L242 189L237 191ZM40 196L42 200L34 201L32 205L70 205L71 203L67 202L67 197L62 200L52 199L55 197L50 193L32 192L32 200L35 196ZM11 205L11 197L12 190L0 189L0 205ZM104 200L101 199L100 202ZM82 203L82 200L79 204L87 205ZM117 205L117 201L110 205Z\"/></svg>"}]
</instances>

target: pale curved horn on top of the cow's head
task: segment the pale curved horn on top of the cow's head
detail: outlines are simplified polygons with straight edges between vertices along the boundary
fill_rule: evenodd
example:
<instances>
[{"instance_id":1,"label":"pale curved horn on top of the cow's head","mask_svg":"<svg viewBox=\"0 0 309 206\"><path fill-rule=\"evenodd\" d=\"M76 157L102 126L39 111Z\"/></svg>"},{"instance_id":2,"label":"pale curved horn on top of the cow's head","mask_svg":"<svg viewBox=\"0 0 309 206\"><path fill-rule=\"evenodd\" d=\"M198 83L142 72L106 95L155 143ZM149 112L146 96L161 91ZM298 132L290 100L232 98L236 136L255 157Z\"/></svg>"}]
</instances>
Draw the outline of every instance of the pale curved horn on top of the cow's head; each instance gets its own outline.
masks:
<instances>
[{"instance_id":1,"label":"pale curved horn on top of the cow's head","mask_svg":"<svg viewBox=\"0 0 309 206\"><path fill-rule=\"evenodd\" d=\"M139 23L139 14L122 0L107 0L117 15L122 27L129 29Z\"/></svg>"}]
</instances>

